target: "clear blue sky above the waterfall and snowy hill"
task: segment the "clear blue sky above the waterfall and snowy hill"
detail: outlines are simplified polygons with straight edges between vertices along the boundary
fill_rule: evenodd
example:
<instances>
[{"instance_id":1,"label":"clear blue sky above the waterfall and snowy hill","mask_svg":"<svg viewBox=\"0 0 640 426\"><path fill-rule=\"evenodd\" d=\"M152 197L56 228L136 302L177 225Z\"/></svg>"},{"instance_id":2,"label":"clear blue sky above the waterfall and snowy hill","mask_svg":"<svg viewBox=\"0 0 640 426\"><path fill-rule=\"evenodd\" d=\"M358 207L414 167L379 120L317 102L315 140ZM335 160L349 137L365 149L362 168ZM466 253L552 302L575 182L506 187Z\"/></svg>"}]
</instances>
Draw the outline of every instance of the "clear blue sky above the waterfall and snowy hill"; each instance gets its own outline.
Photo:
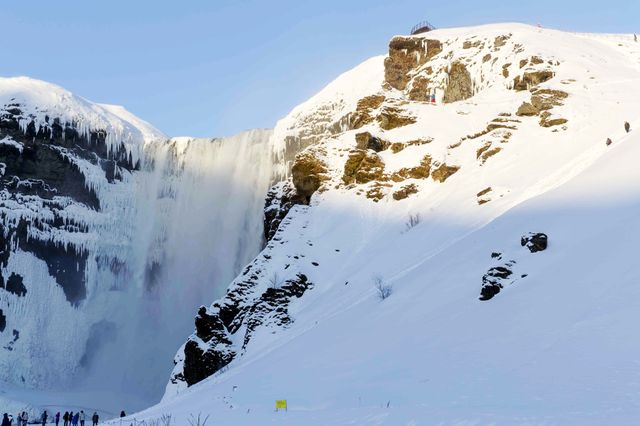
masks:
<instances>
[{"instance_id":1,"label":"clear blue sky above the waterfall and snowy hill","mask_svg":"<svg viewBox=\"0 0 640 426\"><path fill-rule=\"evenodd\" d=\"M423 19L630 33L640 1L5 1L0 75L124 105L170 136L222 136L273 127Z\"/></svg>"}]
</instances>

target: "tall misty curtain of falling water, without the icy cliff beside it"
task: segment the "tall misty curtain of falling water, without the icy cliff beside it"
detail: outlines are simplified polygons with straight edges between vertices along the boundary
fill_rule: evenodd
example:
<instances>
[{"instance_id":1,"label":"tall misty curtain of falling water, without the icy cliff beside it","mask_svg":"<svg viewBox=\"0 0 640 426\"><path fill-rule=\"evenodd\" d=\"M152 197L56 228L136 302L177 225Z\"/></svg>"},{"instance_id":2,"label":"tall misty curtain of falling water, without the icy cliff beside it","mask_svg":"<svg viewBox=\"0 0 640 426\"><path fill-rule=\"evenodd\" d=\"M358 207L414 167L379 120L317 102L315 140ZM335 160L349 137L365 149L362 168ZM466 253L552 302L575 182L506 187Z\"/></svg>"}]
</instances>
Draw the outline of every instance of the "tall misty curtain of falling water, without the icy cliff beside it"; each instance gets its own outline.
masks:
<instances>
[{"instance_id":1,"label":"tall misty curtain of falling water, without the icy cliff beside it","mask_svg":"<svg viewBox=\"0 0 640 426\"><path fill-rule=\"evenodd\" d=\"M95 285L96 293L110 294L89 338L96 347L89 349L86 386L161 396L197 307L221 295L261 248L273 176L270 134L147 147L143 171L131 177L134 204L112 212L114 222L100 231L105 241L129 241L112 253L124 265L102 277L110 288Z\"/></svg>"}]
</instances>

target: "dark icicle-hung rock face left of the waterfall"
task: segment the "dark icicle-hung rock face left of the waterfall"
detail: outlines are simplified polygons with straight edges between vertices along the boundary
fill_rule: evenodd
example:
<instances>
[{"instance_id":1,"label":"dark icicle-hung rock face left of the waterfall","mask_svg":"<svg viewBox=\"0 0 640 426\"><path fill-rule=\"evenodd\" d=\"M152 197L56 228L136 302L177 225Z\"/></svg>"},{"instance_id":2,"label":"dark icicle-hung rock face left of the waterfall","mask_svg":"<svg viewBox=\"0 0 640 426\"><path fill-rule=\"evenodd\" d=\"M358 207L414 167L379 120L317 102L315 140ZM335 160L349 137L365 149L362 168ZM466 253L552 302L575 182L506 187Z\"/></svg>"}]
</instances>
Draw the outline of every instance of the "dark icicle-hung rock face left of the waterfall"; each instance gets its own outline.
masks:
<instances>
[{"instance_id":1,"label":"dark icicle-hung rock face left of the waterfall","mask_svg":"<svg viewBox=\"0 0 640 426\"><path fill-rule=\"evenodd\" d=\"M139 162L134 164L124 144L108 152L106 131L102 129L83 132L76 123L61 123L60 117L46 116L43 123L38 123L23 111L24 107L10 103L0 111L2 267L7 268L14 247L32 254L46 263L67 302L77 305L87 294L85 248L36 235L88 233L82 218L68 217L65 212L70 204L100 211L100 199L83 174L83 165L101 172L113 184L122 181L123 172L139 168ZM34 221L16 210L30 211L38 219ZM20 274L15 276L22 279Z\"/></svg>"}]
</instances>

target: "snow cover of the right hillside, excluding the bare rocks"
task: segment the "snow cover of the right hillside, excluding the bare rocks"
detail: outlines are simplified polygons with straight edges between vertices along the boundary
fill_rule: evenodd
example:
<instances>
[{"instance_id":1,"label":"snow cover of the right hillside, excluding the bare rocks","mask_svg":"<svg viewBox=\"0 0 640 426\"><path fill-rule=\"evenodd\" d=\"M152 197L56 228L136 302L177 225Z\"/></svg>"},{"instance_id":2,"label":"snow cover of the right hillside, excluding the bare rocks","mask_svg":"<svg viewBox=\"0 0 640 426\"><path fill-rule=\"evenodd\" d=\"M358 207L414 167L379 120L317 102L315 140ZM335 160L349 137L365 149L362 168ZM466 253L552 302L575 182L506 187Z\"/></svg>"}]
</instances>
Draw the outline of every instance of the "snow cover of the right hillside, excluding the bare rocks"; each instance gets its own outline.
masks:
<instances>
[{"instance_id":1,"label":"snow cover of the right hillside, excluding the bare rocks","mask_svg":"<svg viewBox=\"0 0 640 426\"><path fill-rule=\"evenodd\" d=\"M507 87L520 56L505 49L491 52L499 58L496 69L490 62L471 66L476 82L483 75L473 98L436 107L413 103L415 125L372 129L391 141L433 137L381 157L391 171L426 153L461 166L445 183L416 181L418 194L373 203L357 188L335 188L356 131L324 141L316 152L325 153L329 190L314 195L309 208L292 210L281 241L265 251L271 268L265 276L278 271L286 279L287 270L302 270L315 283L292 302L293 325L255 333L228 369L177 394L170 385L162 403L132 419L172 414L187 425L202 413L212 424L247 426L635 424L640 44L631 35L515 24L424 36L452 41L445 53L463 56L465 40L509 33L511 43L524 46L520 56L560 62L542 87L569 93L554 109L568 119L566 130L524 117L484 165L476 159L482 140L450 148L529 99L527 91ZM486 53L467 52L480 59ZM506 62L515 64L510 79L500 72ZM338 86L348 87L344 78L354 87L367 77L381 83L382 61L367 64ZM308 110L281 121L275 134L303 125L318 114L314 109L332 104L338 118L344 112L338 105L354 103L339 99L345 92L336 90L335 99L332 86L326 90ZM627 135L624 121L637 130ZM479 206L476 193L488 186L492 201ZM412 214L422 220L407 230ZM546 251L521 247L520 237L531 231L549 235ZM493 252L515 261L517 279L481 302L482 276L498 264ZM287 264L294 266L285 270ZM376 276L393 286L383 302ZM289 410L275 412L276 399L287 399Z\"/></svg>"}]
</instances>

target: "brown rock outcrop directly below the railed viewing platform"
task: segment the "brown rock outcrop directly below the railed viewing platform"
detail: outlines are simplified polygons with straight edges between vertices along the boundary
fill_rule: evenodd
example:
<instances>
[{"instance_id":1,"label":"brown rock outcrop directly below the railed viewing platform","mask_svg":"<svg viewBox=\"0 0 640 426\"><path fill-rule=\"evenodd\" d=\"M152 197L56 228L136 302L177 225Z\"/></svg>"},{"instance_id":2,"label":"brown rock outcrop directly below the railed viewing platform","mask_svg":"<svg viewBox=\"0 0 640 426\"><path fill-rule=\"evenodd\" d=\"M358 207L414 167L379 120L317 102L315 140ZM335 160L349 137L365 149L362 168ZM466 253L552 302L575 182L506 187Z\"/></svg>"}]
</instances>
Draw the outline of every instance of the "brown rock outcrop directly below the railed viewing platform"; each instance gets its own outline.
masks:
<instances>
[{"instance_id":1,"label":"brown rock outcrop directly below the railed viewing platform","mask_svg":"<svg viewBox=\"0 0 640 426\"><path fill-rule=\"evenodd\" d=\"M439 40L397 36L389 43L389 56L384 61L384 79L394 89L404 90L409 72L427 63L442 51Z\"/></svg>"}]
</instances>

